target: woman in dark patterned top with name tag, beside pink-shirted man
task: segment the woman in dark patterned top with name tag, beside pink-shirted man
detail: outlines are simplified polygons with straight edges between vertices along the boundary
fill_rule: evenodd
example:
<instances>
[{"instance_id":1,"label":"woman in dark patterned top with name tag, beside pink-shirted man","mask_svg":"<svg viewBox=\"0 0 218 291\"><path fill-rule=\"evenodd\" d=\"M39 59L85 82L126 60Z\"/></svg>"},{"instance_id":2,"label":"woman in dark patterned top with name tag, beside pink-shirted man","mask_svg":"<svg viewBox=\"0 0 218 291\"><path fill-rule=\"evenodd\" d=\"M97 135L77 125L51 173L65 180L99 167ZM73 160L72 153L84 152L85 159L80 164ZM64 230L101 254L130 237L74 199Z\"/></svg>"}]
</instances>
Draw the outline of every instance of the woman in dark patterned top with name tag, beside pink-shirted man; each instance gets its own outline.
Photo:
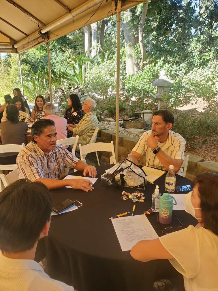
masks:
<instances>
[{"instance_id":1,"label":"woman in dark patterned top with name tag, beside pink-shirted man","mask_svg":"<svg viewBox=\"0 0 218 291\"><path fill-rule=\"evenodd\" d=\"M78 124L83 118L83 110L79 97L76 94L70 94L67 101L69 108L67 108L64 118L67 119L68 124ZM72 137L72 135L72 132L67 132L67 137Z\"/></svg>"}]
</instances>

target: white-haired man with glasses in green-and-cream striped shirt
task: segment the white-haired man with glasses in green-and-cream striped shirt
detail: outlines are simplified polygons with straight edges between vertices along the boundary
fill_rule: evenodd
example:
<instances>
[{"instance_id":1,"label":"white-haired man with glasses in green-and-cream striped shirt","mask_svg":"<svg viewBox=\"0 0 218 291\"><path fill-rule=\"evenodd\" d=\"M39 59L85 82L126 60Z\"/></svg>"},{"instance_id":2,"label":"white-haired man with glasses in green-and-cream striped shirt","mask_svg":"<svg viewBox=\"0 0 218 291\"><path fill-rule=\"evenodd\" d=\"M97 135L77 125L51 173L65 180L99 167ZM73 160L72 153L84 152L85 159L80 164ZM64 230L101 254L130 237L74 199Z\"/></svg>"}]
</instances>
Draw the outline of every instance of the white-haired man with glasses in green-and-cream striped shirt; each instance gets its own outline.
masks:
<instances>
[{"instance_id":1,"label":"white-haired man with glasses in green-and-cream striped shirt","mask_svg":"<svg viewBox=\"0 0 218 291\"><path fill-rule=\"evenodd\" d=\"M78 124L68 124L67 129L73 132L73 136L78 135L79 140L76 147L76 150L79 149L79 144L87 145L92 138L92 135L96 129L99 127L99 121L96 117L96 112L94 112L94 108L96 107L96 103L93 99L87 98L83 102L82 109L85 112L85 116L79 121ZM94 139L96 141L96 137Z\"/></svg>"}]
</instances>

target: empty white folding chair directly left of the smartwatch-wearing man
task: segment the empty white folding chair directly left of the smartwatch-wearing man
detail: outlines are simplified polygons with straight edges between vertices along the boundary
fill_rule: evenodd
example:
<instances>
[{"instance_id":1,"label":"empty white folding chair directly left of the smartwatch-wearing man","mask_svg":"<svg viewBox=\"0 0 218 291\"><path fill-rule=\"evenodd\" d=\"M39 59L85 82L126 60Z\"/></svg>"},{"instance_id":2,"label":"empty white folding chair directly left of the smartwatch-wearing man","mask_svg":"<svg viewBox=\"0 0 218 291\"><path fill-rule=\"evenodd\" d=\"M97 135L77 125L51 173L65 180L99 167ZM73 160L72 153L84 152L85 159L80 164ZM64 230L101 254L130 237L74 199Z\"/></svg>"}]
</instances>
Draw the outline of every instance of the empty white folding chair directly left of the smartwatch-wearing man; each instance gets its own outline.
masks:
<instances>
[{"instance_id":1,"label":"empty white folding chair directly left of the smartwatch-wearing man","mask_svg":"<svg viewBox=\"0 0 218 291\"><path fill-rule=\"evenodd\" d=\"M89 143L87 145L79 144L80 156L83 157L83 161L85 162L84 156L89 154L90 152L112 152L112 156L110 157L110 165L116 164L115 153L114 153L114 143L111 141L110 143ZM99 164L99 160L98 160ZM100 164L99 164L100 166Z\"/></svg>"}]
</instances>

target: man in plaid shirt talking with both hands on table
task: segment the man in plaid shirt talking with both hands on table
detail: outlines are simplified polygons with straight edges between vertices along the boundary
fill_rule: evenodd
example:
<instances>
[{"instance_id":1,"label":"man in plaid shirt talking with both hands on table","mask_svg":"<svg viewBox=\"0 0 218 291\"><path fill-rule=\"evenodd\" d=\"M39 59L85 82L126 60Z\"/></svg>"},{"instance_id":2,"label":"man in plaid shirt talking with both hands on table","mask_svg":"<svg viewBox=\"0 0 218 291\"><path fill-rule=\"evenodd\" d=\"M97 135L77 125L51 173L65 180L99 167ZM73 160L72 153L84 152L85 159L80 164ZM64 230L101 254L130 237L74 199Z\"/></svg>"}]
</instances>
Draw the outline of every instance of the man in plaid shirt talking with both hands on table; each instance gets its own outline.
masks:
<instances>
[{"instance_id":1,"label":"man in plaid shirt talking with both hands on table","mask_svg":"<svg viewBox=\"0 0 218 291\"><path fill-rule=\"evenodd\" d=\"M74 157L63 145L56 144L57 132L51 119L40 119L33 123L32 141L17 156L18 177L31 181L40 181L49 189L65 186L82 189L86 192L94 189L87 179L59 180L65 176L65 168L83 171L84 176L96 176L96 168Z\"/></svg>"}]
</instances>

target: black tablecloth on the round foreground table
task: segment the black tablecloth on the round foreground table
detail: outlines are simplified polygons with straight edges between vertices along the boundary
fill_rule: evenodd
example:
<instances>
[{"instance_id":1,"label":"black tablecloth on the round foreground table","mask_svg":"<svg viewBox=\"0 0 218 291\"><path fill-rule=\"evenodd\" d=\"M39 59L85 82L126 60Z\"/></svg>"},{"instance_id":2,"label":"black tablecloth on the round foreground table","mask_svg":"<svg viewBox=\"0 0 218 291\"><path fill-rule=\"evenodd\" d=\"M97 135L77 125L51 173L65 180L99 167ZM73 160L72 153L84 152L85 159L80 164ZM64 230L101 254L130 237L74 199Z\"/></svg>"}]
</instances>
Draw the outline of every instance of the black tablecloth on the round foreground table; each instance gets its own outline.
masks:
<instances>
[{"instance_id":1,"label":"black tablecloth on the round foreground table","mask_svg":"<svg viewBox=\"0 0 218 291\"><path fill-rule=\"evenodd\" d=\"M117 235L109 219L117 214L132 211L133 200L122 200L122 190L113 186L102 187L100 176L111 165L98 166L98 180L94 190L61 188L51 190L53 205L65 199L78 200L83 206L51 219L49 235L45 237L48 274L51 278L74 286L78 291L145 291L153 290L153 283L177 274L168 260L135 261L130 251L121 251ZM72 175L82 176L78 171ZM165 175L156 180L160 193L165 192ZM88 175L87 175L88 176ZM190 184L190 180L176 175L177 185ZM151 207L155 185L147 184L144 202L137 203L134 215ZM134 189L124 188L133 193ZM79 204L78 204L79 205ZM176 210L185 227L197 221L183 210ZM153 228L162 235L156 213L148 216ZM161 225L161 224L160 224ZM172 226L179 222L173 215ZM164 229L166 226L161 225Z\"/></svg>"}]
</instances>

